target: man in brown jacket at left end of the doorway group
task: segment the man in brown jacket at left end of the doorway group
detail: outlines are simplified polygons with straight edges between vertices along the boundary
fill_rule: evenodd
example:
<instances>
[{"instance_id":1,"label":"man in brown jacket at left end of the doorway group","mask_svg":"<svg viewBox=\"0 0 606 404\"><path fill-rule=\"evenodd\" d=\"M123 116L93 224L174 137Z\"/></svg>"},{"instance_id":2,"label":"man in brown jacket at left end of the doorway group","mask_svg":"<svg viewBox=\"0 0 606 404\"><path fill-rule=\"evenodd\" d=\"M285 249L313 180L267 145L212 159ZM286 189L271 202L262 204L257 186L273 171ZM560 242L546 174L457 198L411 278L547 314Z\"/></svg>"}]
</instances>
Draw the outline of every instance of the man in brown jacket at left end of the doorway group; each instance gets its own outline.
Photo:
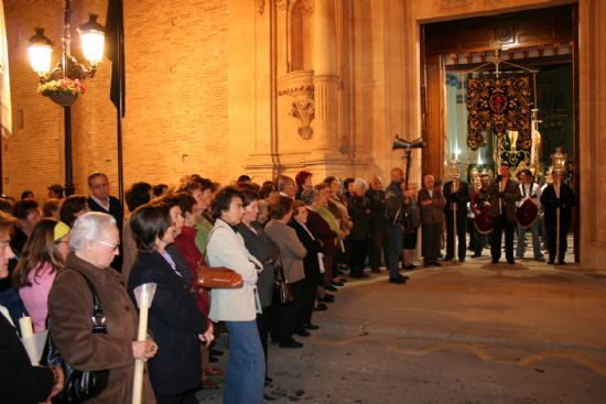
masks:
<instances>
[{"instance_id":1,"label":"man in brown jacket at left end of the doorway group","mask_svg":"<svg viewBox=\"0 0 606 404\"><path fill-rule=\"evenodd\" d=\"M421 243L423 247L423 264L425 266L441 266L437 262L440 243L442 242L442 210L444 196L439 187L434 187L433 175L425 175L423 189L419 192L418 203L421 206Z\"/></svg>"}]
</instances>

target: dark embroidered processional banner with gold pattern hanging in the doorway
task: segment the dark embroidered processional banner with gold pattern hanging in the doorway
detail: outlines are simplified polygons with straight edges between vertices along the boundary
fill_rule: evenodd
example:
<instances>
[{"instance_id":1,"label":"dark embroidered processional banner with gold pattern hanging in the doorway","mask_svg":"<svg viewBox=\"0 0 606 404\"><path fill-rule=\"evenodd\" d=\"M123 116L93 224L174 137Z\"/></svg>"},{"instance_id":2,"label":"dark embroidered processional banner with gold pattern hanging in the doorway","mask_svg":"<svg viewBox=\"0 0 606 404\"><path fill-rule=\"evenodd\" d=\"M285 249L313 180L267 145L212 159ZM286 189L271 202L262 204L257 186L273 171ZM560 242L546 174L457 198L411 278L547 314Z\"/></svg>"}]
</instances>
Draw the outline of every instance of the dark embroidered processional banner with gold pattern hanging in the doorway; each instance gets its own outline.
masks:
<instances>
[{"instance_id":1,"label":"dark embroidered processional banner with gold pattern hanging in the doorway","mask_svg":"<svg viewBox=\"0 0 606 404\"><path fill-rule=\"evenodd\" d=\"M501 161L517 167L530 160L529 77L470 78L467 88L467 146L476 151L485 144L480 131L498 139ZM516 135L508 135L517 132Z\"/></svg>"}]
</instances>

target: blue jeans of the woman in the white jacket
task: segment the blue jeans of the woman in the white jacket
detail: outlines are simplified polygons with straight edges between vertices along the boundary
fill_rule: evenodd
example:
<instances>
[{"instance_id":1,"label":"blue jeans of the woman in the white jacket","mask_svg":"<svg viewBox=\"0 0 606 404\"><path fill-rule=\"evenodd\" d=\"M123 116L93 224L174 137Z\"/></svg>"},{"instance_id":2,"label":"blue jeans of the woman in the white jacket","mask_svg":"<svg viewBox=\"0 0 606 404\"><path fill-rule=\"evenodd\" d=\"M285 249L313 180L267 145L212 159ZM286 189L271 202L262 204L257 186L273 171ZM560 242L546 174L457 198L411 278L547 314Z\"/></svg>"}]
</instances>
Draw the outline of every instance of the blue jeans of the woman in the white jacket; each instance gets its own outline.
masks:
<instances>
[{"instance_id":1,"label":"blue jeans of the woman in the white jacket","mask_svg":"<svg viewBox=\"0 0 606 404\"><path fill-rule=\"evenodd\" d=\"M229 361L225 376L225 404L262 404L266 358L257 321L225 321L229 331Z\"/></svg>"}]
</instances>

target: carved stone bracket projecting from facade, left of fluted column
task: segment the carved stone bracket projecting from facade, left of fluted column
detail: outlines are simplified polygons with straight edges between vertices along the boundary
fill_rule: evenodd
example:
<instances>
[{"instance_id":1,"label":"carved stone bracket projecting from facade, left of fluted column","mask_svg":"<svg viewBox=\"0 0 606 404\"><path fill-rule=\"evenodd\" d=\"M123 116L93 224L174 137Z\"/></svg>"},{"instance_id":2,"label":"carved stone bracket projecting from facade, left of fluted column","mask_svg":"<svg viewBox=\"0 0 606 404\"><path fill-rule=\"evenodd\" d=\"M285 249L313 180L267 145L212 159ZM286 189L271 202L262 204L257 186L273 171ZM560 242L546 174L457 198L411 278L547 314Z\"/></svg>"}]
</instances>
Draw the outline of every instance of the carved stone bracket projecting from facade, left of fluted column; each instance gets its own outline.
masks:
<instances>
[{"instance_id":1,"label":"carved stone bracket projecting from facade, left of fluted column","mask_svg":"<svg viewBox=\"0 0 606 404\"><path fill-rule=\"evenodd\" d=\"M297 132L305 140L311 139L314 133L310 127L315 117L313 77L313 70L297 70L278 79L278 95L294 98L289 116L301 120Z\"/></svg>"}]
</instances>

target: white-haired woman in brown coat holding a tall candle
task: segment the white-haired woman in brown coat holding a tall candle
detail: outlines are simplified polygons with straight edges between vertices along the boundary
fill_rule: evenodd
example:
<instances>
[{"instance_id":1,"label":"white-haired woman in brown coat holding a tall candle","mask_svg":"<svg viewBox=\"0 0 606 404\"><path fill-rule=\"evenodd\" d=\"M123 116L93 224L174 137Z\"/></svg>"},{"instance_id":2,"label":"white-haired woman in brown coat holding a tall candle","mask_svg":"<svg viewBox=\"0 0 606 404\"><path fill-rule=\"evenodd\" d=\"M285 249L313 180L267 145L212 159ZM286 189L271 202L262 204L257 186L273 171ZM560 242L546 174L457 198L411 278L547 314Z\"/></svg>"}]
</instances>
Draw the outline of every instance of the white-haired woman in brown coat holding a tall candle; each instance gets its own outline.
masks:
<instances>
[{"instance_id":1,"label":"white-haired woman in brown coat holding a tall candle","mask_svg":"<svg viewBox=\"0 0 606 404\"><path fill-rule=\"evenodd\" d=\"M136 341L137 308L109 264L120 243L116 219L101 212L80 216L71 233L65 269L59 271L48 295L50 331L53 342L72 367L80 370L109 369L105 390L88 403L132 402L134 359L148 361L158 351L152 340ZM93 294L96 290L107 334L93 334ZM144 375L143 402L155 403Z\"/></svg>"}]
</instances>

